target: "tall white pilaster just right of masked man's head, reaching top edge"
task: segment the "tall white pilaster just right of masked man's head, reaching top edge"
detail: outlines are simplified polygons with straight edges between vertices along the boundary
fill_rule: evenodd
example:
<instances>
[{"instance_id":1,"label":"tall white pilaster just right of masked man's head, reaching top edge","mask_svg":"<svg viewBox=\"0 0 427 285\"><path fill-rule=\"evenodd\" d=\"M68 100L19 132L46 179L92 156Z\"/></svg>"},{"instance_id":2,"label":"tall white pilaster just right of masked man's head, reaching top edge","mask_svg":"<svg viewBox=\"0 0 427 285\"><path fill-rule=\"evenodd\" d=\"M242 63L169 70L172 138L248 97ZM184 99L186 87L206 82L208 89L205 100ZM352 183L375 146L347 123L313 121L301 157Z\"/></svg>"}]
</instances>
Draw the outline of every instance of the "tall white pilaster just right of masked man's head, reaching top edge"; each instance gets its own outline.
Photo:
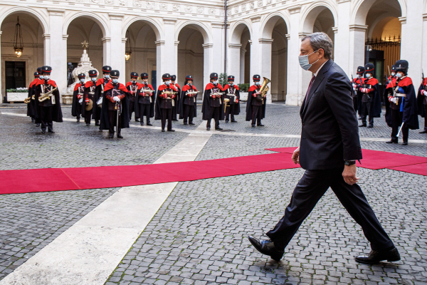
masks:
<instances>
[{"instance_id":1,"label":"tall white pilaster just right of masked man's head, reaching top edge","mask_svg":"<svg viewBox=\"0 0 427 285\"><path fill-rule=\"evenodd\" d=\"M350 11L352 1L338 0L338 21L335 27L332 28L335 33L334 38L334 61L341 66L347 73L347 76L352 75L352 70L349 68L349 24Z\"/></svg>"}]
</instances>

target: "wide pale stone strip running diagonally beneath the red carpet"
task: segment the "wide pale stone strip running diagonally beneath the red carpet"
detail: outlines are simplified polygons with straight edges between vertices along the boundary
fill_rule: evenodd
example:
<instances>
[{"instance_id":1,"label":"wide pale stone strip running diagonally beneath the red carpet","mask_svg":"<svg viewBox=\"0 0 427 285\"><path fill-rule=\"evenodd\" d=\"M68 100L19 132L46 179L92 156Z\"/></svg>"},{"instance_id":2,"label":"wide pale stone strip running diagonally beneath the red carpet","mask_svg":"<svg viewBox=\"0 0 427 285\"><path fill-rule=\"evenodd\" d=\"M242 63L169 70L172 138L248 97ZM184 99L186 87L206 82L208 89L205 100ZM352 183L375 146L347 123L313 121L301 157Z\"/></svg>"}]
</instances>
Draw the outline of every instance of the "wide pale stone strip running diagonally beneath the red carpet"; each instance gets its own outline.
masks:
<instances>
[{"instance_id":1,"label":"wide pale stone strip running diagonally beneath the red carpet","mask_svg":"<svg viewBox=\"0 0 427 285\"><path fill-rule=\"evenodd\" d=\"M210 137L190 134L154 163L195 160ZM177 183L122 187L0 284L104 284Z\"/></svg>"}]
</instances>

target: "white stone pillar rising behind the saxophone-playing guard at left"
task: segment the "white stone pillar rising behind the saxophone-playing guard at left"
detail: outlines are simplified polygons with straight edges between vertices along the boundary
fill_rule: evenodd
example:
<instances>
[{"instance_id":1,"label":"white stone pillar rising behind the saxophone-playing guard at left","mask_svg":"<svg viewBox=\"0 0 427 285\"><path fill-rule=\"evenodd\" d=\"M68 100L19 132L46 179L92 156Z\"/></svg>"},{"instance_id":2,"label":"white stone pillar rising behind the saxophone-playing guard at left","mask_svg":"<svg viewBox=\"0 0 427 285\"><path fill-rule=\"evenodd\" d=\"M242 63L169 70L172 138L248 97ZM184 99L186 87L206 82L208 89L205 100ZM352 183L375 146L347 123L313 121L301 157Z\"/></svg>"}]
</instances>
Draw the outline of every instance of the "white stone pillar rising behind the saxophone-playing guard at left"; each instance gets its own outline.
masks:
<instances>
[{"instance_id":1,"label":"white stone pillar rising behind the saxophone-playing guard at left","mask_svg":"<svg viewBox=\"0 0 427 285\"><path fill-rule=\"evenodd\" d=\"M67 88L67 37L63 36L63 15L65 10L48 9L50 35L45 39L45 65L52 67L51 78L58 85L60 93Z\"/></svg>"}]
</instances>

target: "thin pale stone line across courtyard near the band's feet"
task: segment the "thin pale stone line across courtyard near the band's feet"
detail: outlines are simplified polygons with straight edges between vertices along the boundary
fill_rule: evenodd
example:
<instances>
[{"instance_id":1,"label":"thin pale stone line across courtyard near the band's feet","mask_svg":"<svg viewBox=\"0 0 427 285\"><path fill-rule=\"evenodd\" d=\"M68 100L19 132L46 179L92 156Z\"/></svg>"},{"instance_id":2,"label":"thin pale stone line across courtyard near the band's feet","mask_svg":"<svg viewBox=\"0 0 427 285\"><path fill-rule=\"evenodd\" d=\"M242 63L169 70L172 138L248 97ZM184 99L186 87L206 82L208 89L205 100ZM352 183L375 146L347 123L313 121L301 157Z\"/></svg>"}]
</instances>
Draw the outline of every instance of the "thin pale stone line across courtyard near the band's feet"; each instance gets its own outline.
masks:
<instances>
[{"instance_id":1,"label":"thin pale stone line across courtyard near the band's feet","mask_svg":"<svg viewBox=\"0 0 427 285\"><path fill-rule=\"evenodd\" d=\"M18 113L6 113L1 112L2 115L14 115L19 117L26 117L25 114L18 114ZM64 121L69 122L75 122L75 119L67 119L64 118ZM130 124L130 127L132 128L147 128L152 130L161 130L160 127L154 127L154 126L148 126L148 125L132 125ZM178 132L184 132L184 133L193 133L193 134L206 134L206 129L204 128L204 123L202 123L199 128L196 130L189 130L189 129L180 129L180 128L174 128L174 130ZM212 133L211 133L212 134ZM234 136L248 136L248 137L265 137L265 138L301 138L301 135L281 135L281 134L268 134L268 133L236 133L236 132L215 132L215 134L221 134L221 135L234 135ZM390 139L389 138L360 138L361 141L366 142L387 142ZM427 140L408 140L410 143L427 143Z\"/></svg>"}]
</instances>

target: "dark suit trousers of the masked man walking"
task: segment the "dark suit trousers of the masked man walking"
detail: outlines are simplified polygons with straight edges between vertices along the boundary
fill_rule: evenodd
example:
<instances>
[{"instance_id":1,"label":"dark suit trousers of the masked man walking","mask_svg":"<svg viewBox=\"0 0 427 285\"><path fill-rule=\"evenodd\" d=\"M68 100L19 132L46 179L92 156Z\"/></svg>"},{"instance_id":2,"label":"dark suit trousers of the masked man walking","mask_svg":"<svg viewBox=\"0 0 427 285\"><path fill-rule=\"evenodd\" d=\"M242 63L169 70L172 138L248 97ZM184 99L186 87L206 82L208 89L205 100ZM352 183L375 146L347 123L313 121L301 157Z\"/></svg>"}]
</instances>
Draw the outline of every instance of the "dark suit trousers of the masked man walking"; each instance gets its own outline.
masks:
<instances>
[{"instance_id":1,"label":"dark suit trousers of the masked man walking","mask_svg":"<svg viewBox=\"0 0 427 285\"><path fill-rule=\"evenodd\" d=\"M329 170L306 170L292 193L285 216L267 233L278 249L285 249L304 219L329 187L350 216L362 227L364 236L374 250L394 247L389 236L379 224L367 198L359 185L348 185L342 177L344 167Z\"/></svg>"}]
</instances>

